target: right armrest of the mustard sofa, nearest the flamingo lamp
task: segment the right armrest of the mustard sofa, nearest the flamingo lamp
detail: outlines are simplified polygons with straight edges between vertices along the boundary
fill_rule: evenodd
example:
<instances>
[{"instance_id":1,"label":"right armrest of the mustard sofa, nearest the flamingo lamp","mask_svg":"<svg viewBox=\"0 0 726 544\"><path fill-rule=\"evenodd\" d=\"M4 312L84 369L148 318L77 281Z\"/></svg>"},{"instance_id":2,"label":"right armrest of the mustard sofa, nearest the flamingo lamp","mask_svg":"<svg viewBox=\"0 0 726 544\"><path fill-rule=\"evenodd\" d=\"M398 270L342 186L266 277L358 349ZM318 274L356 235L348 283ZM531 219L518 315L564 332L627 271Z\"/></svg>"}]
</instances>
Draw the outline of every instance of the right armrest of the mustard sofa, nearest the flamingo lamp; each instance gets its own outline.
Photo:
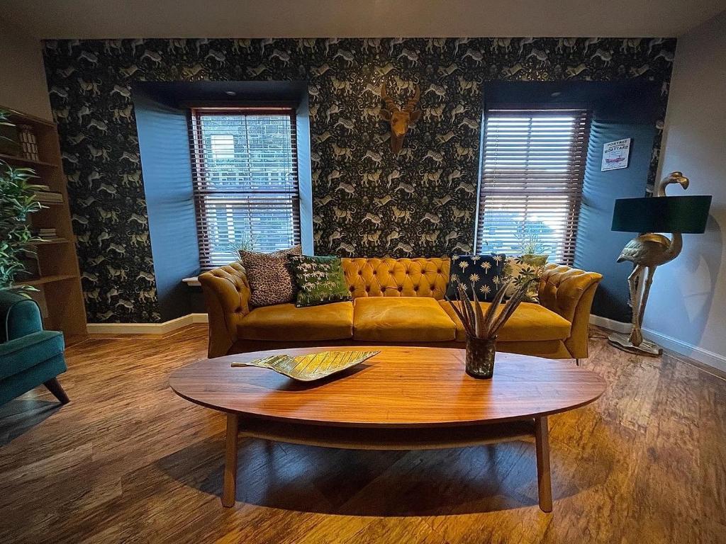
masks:
<instances>
[{"instance_id":1,"label":"right armrest of the mustard sofa, nearest the flamingo lamp","mask_svg":"<svg viewBox=\"0 0 726 544\"><path fill-rule=\"evenodd\" d=\"M587 357L590 308L602 274L566 265L547 265L539 280L539 303L571 323L565 347L573 358Z\"/></svg>"}]
</instances>

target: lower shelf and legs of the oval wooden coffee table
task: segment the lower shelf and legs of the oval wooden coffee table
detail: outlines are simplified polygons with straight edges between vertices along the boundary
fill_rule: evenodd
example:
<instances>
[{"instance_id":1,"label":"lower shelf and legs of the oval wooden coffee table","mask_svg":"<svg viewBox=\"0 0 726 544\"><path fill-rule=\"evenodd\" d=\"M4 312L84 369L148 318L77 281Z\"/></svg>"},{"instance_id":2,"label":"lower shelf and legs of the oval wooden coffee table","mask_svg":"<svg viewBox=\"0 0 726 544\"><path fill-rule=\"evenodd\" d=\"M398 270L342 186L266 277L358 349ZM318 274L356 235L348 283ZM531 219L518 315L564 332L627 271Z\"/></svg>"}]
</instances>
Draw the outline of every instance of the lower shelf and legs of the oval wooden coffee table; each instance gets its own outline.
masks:
<instances>
[{"instance_id":1,"label":"lower shelf and legs of the oval wooden coffee table","mask_svg":"<svg viewBox=\"0 0 726 544\"><path fill-rule=\"evenodd\" d=\"M552 511L547 417L505 423L406 428L295 424L227 413L227 450L221 502L234 506L237 492L237 438L248 437L349 450L435 450L465 448L534 438L539 508Z\"/></svg>"}]
</instances>

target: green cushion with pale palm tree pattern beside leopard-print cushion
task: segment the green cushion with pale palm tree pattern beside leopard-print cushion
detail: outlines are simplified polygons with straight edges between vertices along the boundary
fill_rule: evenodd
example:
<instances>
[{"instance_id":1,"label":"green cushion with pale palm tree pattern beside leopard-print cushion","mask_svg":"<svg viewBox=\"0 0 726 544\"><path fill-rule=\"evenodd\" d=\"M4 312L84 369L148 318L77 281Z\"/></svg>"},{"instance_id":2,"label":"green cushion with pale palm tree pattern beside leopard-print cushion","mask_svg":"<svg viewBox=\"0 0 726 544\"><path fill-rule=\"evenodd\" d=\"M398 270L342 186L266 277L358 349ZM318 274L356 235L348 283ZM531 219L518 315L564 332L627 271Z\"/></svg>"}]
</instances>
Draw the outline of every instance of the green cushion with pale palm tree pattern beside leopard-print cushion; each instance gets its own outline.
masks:
<instances>
[{"instance_id":1,"label":"green cushion with pale palm tree pattern beside leopard-print cushion","mask_svg":"<svg viewBox=\"0 0 726 544\"><path fill-rule=\"evenodd\" d=\"M294 255L290 267L298 285L298 308L351 300L340 257Z\"/></svg>"}]
</instances>

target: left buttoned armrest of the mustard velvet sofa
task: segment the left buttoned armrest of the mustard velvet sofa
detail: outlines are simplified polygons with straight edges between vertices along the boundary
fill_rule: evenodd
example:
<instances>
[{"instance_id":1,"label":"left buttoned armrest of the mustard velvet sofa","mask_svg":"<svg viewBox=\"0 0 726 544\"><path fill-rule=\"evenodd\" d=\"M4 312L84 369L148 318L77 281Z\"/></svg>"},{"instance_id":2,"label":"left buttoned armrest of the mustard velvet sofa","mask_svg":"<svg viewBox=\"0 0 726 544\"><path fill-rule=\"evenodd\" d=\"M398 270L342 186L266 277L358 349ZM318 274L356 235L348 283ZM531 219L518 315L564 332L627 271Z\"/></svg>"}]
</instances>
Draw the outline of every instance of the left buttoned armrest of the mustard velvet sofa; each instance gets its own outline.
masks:
<instances>
[{"instance_id":1,"label":"left buttoned armrest of the mustard velvet sofa","mask_svg":"<svg viewBox=\"0 0 726 544\"><path fill-rule=\"evenodd\" d=\"M237 325L250 313L250 284L240 263L200 274L209 318L209 357L227 355L237 341Z\"/></svg>"}]
</instances>

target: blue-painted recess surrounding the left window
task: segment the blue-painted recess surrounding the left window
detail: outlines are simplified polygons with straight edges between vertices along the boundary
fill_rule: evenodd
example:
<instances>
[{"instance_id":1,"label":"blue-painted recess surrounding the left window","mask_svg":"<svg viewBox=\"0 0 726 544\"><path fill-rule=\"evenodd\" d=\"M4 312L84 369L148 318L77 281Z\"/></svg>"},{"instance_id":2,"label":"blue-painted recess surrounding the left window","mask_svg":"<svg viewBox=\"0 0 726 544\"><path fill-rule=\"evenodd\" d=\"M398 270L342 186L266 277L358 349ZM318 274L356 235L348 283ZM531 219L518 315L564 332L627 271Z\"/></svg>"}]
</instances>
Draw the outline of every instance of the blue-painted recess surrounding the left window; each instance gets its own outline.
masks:
<instances>
[{"instance_id":1,"label":"blue-painted recess surrounding the left window","mask_svg":"<svg viewBox=\"0 0 726 544\"><path fill-rule=\"evenodd\" d=\"M260 98L297 107L298 168L301 192L301 239L313 250L312 194L310 186L310 128L307 86L303 82L150 83L134 85L136 132L139 136L144 190L149 216L151 250L163 321L187 313L203 313L200 287L181 283L199 272L199 247L192 194L192 171L187 138L187 107L184 104L264 105ZM232 252L229 260L233 260ZM150 296L153 287L139 283Z\"/></svg>"}]
</instances>

